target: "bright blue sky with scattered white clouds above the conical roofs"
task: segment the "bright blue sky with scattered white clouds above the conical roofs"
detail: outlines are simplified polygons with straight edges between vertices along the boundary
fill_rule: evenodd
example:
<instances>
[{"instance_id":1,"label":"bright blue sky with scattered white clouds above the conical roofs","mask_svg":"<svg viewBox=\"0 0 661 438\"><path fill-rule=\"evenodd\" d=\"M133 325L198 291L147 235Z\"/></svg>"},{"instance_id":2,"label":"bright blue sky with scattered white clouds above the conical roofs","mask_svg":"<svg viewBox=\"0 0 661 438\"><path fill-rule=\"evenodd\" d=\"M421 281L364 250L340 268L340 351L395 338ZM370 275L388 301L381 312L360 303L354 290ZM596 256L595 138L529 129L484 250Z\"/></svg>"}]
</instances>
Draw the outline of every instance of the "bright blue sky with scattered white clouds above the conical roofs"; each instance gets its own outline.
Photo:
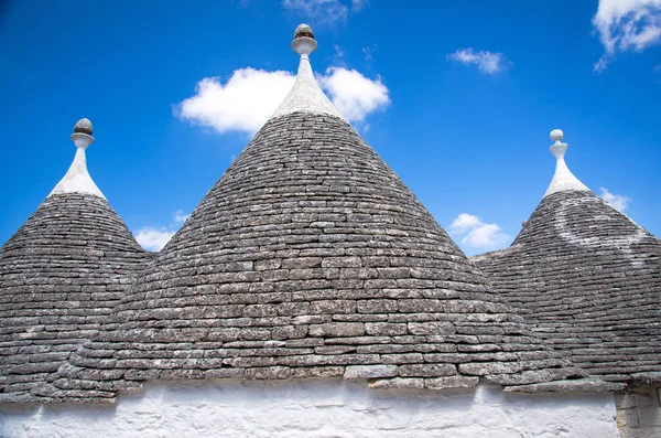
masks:
<instances>
[{"instance_id":1,"label":"bright blue sky with scattered white clouds above the conical roofs","mask_svg":"<svg viewBox=\"0 0 661 438\"><path fill-rule=\"evenodd\" d=\"M286 93L301 22L327 94L467 254L518 234L553 175L554 128L574 174L661 235L661 0L402 4L0 3L0 243L64 175L87 117L91 177L162 244Z\"/></svg>"}]
</instances>

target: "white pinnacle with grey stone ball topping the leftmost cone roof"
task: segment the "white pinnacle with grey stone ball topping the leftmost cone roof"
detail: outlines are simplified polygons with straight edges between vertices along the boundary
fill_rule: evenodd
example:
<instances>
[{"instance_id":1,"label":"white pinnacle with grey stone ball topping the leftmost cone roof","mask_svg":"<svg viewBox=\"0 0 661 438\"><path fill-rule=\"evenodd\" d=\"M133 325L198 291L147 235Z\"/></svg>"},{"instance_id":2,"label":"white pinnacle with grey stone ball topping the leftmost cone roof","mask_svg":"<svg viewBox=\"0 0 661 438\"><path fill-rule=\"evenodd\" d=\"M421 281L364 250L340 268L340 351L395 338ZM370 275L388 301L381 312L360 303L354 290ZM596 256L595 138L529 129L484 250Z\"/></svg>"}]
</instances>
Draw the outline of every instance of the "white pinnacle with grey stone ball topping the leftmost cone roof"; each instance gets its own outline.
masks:
<instances>
[{"instance_id":1,"label":"white pinnacle with grey stone ball topping the leftmost cone roof","mask_svg":"<svg viewBox=\"0 0 661 438\"><path fill-rule=\"evenodd\" d=\"M48 194L52 196L57 193L89 193L95 194L99 197L106 199L104 193L97 188L91 180L89 172L87 171L87 158L85 157L85 149L89 145L94 143L94 137L91 137L93 127L91 121L86 118L82 118L74 126L74 133L72 133L72 140L76 145L76 156L74 162L67 170L64 178L55 185L55 189Z\"/></svg>"}]
</instances>

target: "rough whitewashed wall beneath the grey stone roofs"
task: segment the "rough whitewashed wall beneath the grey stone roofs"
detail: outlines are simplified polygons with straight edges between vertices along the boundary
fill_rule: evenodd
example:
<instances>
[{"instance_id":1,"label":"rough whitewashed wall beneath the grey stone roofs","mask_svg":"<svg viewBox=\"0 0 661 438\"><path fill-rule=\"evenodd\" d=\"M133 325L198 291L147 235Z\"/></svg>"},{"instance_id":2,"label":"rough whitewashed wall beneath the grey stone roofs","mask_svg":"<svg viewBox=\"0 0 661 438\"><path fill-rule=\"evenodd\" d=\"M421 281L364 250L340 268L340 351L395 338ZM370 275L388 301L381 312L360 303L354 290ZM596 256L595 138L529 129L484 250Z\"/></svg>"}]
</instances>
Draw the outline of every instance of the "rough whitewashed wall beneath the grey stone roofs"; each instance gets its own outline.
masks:
<instances>
[{"instance_id":1,"label":"rough whitewashed wall beneath the grey stone roofs","mask_svg":"<svg viewBox=\"0 0 661 438\"><path fill-rule=\"evenodd\" d=\"M116 406L8 407L2 437L616 438L613 394L375 391L362 381L164 382Z\"/></svg>"}]
</instances>

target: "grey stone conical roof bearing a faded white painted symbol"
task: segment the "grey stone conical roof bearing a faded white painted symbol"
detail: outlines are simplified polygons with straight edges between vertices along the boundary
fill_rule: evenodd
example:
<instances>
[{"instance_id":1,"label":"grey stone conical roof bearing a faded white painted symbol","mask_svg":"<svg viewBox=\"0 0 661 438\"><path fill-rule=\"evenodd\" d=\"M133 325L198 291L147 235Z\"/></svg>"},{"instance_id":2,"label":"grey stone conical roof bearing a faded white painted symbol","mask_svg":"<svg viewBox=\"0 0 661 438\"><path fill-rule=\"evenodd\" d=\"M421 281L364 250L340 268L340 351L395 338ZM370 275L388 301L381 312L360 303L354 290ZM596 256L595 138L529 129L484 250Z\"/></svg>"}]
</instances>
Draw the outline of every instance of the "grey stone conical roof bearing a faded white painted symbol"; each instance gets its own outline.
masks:
<instances>
[{"instance_id":1,"label":"grey stone conical roof bearing a faded white painted symbol","mask_svg":"<svg viewBox=\"0 0 661 438\"><path fill-rule=\"evenodd\" d=\"M594 193L548 195L509 248L473 260L590 375L661 381L661 241Z\"/></svg>"}]
</instances>

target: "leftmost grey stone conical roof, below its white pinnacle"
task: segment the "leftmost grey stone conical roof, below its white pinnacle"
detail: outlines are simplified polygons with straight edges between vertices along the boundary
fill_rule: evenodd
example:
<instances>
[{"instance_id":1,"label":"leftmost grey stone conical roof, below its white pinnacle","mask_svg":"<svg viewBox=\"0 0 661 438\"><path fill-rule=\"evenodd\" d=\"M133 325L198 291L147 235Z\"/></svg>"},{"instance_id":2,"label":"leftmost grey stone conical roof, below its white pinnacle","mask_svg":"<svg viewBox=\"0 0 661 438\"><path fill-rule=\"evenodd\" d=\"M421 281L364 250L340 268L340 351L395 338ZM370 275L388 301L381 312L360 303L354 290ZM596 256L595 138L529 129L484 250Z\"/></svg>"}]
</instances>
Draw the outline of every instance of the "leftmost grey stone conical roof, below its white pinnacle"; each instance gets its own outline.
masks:
<instances>
[{"instance_id":1,"label":"leftmost grey stone conical roof, below its white pinnacle","mask_svg":"<svg viewBox=\"0 0 661 438\"><path fill-rule=\"evenodd\" d=\"M0 403L66 396L57 368L148 258L105 199L48 196L0 249Z\"/></svg>"}]
</instances>

